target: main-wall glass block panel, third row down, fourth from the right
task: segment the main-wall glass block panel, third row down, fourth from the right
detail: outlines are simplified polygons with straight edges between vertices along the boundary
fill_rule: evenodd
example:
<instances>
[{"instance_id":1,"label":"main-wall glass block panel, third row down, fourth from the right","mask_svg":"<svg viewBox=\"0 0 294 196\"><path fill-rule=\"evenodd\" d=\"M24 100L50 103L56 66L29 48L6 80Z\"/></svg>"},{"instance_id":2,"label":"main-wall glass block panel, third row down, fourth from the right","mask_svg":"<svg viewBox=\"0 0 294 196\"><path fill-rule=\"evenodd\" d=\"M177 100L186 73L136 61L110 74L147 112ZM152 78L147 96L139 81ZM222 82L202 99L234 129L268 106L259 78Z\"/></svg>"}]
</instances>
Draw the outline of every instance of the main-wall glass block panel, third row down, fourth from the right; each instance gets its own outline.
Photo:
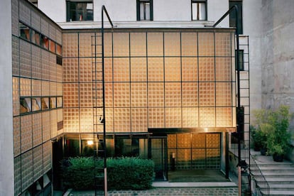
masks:
<instances>
[{"instance_id":1,"label":"main-wall glass block panel, third row down, fourth from the right","mask_svg":"<svg viewBox=\"0 0 294 196\"><path fill-rule=\"evenodd\" d=\"M165 82L165 107L180 107L181 87L180 82Z\"/></svg>"}]
</instances>

